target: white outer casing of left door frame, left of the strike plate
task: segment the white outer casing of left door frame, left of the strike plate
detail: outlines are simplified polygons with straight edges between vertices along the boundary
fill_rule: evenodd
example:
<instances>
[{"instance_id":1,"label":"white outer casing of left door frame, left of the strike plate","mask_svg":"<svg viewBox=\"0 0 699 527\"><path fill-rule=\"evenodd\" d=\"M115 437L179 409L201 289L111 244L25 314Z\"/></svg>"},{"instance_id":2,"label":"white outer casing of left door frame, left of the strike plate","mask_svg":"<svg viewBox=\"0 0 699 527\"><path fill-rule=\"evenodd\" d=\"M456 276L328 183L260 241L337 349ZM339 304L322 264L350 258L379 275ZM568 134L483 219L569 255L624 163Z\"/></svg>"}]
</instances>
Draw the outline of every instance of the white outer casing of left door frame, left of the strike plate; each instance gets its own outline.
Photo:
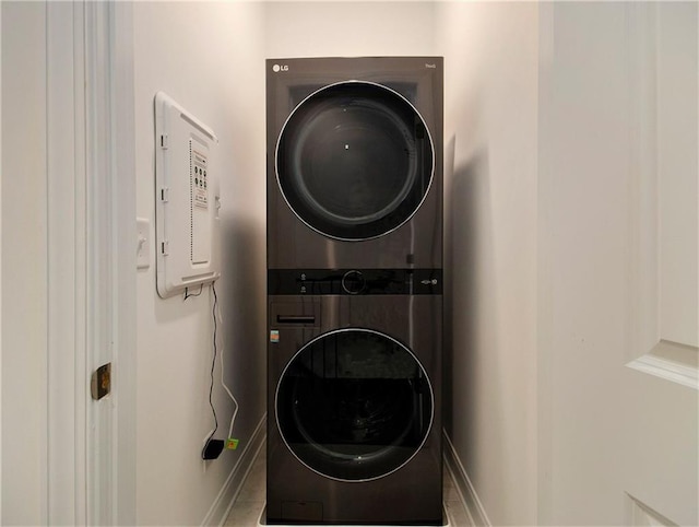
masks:
<instances>
[{"instance_id":1,"label":"white outer casing of left door frame, left of the strike plate","mask_svg":"<svg viewBox=\"0 0 699 527\"><path fill-rule=\"evenodd\" d=\"M46 2L47 520L86 518L84 13Z\"/></svg>"}]
</instances>

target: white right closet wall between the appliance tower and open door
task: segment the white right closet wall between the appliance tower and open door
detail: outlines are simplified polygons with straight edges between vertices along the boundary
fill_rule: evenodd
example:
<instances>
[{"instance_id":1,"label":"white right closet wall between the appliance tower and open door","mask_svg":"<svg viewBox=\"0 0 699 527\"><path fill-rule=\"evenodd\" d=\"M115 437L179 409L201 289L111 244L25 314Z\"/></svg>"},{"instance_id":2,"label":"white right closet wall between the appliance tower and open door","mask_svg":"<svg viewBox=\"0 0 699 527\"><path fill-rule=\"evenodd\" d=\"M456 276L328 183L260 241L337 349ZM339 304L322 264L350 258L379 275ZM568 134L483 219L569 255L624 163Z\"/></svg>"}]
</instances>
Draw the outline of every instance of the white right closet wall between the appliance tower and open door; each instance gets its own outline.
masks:
<instances>
[{"instance_id":1,"label":"white right closet wall between the appliance tower and open door","mask_svg":"<svg viewBox=\"0 0 699 527\"><path fill-rule=\"evenodd\" d=\"M445 429L481 501L476 522L493 525L536 524L537 9L438 2L435 20L447 72Z\"/></svg>"}]
</instances>

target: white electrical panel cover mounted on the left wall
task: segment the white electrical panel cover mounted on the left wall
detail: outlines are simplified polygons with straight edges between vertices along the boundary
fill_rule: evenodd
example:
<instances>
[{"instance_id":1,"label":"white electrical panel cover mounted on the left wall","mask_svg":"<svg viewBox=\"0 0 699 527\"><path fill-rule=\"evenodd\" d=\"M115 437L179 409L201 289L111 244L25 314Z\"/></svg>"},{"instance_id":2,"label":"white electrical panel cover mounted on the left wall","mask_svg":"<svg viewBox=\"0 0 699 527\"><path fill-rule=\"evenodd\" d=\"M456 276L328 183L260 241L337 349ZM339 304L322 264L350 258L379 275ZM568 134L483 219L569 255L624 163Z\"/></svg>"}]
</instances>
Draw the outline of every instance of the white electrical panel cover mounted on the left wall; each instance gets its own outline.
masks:
<instances>
[{"instance_id":1,"label":"white electrical panel cover mounted on the left wall","mask_svg":"<svg viewBox=\"0 0 699 527\"><path fill-rule=\"evenodd\" d=\"M218 140L163 92L155 95L157 293L166 298L221 277ZM197 290L193 290L197 288Z\"/></svg>"}]
</instances>

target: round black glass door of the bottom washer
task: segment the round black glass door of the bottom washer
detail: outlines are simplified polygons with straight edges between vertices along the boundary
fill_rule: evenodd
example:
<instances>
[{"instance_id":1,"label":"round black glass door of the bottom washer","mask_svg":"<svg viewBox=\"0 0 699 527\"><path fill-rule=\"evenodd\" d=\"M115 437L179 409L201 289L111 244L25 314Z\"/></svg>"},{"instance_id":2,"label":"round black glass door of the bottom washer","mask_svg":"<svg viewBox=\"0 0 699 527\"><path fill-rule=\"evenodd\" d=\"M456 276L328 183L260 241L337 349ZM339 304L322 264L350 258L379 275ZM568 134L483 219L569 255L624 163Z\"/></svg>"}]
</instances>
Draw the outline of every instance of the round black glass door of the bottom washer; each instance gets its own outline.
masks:
<instances>
[{"instance_id":1,"label":"round black glass door of the bottom washer","mask_svg":"<svg viewBox=\"0 0 699 527\"><path fill-rule=\"evenodd\" d=\"M301 348L276 389L276 420L292 453L342 481L389 475L420 449L434 395L415 355L367 329L324 333Z\"/></svg>"}]
</instances>

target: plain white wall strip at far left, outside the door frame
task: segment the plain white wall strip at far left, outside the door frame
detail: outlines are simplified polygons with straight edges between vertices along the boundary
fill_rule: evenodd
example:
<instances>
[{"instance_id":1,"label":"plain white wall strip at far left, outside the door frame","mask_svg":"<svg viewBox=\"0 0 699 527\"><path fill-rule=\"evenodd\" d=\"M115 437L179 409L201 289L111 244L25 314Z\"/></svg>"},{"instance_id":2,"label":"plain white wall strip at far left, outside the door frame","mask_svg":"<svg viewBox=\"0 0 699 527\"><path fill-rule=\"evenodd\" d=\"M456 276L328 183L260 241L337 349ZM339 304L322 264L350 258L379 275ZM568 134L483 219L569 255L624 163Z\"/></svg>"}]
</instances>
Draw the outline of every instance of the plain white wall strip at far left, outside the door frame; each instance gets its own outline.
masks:
<instances>
[{"instance_id":1,"label":"plain white wall strip at far left, outside the door frame","mask_svg":"<svg viewBox=\"0 0 699 527\"><path fill-rule=\"evenodd\" d=\"M2 2L2 517L46 523L46 5Z\"/></svg>"}]
</instances>

